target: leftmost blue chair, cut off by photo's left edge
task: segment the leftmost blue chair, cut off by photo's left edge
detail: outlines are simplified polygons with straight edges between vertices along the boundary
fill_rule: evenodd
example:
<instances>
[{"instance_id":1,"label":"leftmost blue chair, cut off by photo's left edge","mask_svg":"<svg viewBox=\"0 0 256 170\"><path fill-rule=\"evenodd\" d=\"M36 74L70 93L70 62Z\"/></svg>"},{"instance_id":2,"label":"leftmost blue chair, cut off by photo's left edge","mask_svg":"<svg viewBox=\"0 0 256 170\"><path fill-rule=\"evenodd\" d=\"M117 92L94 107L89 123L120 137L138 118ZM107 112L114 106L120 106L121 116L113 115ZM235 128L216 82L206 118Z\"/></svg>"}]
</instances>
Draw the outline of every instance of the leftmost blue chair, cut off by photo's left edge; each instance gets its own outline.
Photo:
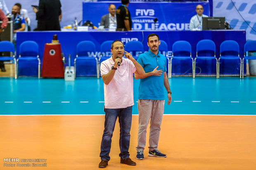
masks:
<instances>
[{"instance_id":1,"label":"leftmost blue chair, cut off by photo's left edge","mask_svg":"<svg viewBox=\"0 0 256 170\"><path fill-rule=\"evenodd\" d=\"M11 52L12 57L10 56L0 56L0 61L12 61L14 60L14 77L17 79L17 65L14 55L14 45L10 41L0 41L0 53L2 52Z\"/></svg>"}]
</instances>

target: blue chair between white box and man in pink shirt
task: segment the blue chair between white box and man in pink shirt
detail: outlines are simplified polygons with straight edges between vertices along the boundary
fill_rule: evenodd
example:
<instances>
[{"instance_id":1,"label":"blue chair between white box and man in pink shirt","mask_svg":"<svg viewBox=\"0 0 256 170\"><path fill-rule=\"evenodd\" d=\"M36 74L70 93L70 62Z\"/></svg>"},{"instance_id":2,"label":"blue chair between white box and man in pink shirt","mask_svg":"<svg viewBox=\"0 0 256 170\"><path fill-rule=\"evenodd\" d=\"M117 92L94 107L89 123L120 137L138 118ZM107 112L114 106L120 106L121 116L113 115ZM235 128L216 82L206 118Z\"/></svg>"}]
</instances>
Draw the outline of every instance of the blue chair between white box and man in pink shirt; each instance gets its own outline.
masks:
<instances>
[{"instance_id":1,"label":"blue chair between white box and man in pink shirt","mask_svg":"<svg viewBox=\"0 0 256 170\"><path fill-rule=\"evenodd\" d=\"M89 54L92 56L90 57ZM79 67L77 66L77 64ZM92 41L81 41L77 44L74 65L76 76L97 75L97 78L99 78L96 48L95 44Z\"/></svg>"}]
</instances>

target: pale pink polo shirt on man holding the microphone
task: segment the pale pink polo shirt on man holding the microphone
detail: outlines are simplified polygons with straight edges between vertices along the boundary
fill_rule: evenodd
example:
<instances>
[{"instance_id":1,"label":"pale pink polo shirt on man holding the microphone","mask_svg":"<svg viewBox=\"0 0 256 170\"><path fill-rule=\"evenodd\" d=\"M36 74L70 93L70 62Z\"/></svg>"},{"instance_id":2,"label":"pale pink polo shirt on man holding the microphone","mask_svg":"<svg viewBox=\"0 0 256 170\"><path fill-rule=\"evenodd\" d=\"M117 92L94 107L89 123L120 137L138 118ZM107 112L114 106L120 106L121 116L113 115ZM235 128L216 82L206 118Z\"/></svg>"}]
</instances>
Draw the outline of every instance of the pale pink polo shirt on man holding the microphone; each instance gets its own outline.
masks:
<instances>
[{"instance_id":1,"label":"pale pink polo shirt on man holding the microphone","mask_svg":"<svg viewBox=\"0 0 256 170\"><path fill-rule=\"evenodd\" d=\"M108 74L114 66L112 56L100 64L101 76ZM105 108L127 108L133 106L133 73L136 68L133 62L122 58L122 62L108 85L104 83Z\"/></svg>"}]
</instances>

